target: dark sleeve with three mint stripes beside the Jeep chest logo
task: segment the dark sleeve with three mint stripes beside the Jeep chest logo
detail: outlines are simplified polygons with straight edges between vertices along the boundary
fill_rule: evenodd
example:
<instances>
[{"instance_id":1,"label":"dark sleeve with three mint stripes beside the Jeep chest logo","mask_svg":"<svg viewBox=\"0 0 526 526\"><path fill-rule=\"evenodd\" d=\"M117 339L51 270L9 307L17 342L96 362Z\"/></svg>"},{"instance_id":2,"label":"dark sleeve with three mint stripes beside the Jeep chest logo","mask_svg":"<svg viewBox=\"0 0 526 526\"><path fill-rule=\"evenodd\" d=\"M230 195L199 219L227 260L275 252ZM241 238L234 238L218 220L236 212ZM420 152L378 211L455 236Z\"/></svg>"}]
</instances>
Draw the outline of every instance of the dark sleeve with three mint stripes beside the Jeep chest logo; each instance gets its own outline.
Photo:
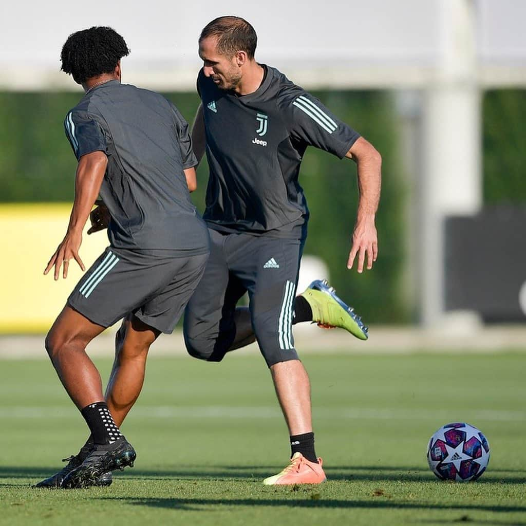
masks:
<instances>
[{"instance_id":1,"label":"dark sleeve with three mint stripes beside the Jeep chest logo","mask_svg":"<svg viewBox=\"0 0 526 526\"><path fill-rule=\"evenodd\" d=\"M321 102L307 92L287 97L290 134L309 146L315 146L340 159L355 144L360 134L341 122ZM285 108L284 108L285 109Z\"/></svg>"}]
</instances>

